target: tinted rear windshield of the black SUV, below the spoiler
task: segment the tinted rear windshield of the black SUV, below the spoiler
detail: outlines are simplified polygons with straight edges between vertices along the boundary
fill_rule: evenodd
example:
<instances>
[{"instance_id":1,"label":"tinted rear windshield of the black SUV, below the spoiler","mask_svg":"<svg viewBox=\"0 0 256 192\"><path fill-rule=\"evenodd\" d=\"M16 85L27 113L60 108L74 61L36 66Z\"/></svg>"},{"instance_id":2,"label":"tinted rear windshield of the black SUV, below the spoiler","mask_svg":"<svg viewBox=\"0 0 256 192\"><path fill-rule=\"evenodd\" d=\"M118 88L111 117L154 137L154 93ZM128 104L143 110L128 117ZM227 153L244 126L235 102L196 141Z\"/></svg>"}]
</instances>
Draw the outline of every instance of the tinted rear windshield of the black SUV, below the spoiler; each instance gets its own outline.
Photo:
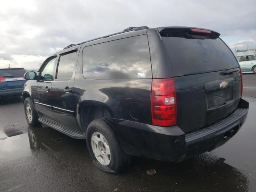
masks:
<instances>
[{"instance_id":1,"label":"tinted rear windshield of the black SUV, below the spoiler","mask_svg":"<svg viewBox=\"0 0 256 192\"><path fill-rule=\"evenodd\" d=\"M174 76L237 68L238 63L220 38L162 37Z\"/></svg>"}]
</instances>

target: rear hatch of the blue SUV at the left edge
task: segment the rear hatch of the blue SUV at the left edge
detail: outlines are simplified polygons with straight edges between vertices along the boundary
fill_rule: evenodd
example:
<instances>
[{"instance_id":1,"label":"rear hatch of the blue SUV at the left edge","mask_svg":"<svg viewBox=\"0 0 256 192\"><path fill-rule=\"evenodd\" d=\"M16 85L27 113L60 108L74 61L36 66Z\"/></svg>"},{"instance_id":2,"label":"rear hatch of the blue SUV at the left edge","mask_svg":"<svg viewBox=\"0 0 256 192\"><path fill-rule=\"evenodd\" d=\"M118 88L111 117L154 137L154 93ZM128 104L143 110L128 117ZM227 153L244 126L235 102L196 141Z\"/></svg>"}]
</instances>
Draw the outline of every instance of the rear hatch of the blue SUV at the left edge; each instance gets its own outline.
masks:
<instances>
[{"instance_id":1,"label":"rear hatch of the blue SUV at the left edge","mask_svg":"<svg viewBox=\"0 0 256 192\"><path fill-rule=\"evenodd\" d=\"M0 69L0 92L23 88L23 84L26 82L23 78L25 73L24 68Z\"/></svg>"}]
</instances>

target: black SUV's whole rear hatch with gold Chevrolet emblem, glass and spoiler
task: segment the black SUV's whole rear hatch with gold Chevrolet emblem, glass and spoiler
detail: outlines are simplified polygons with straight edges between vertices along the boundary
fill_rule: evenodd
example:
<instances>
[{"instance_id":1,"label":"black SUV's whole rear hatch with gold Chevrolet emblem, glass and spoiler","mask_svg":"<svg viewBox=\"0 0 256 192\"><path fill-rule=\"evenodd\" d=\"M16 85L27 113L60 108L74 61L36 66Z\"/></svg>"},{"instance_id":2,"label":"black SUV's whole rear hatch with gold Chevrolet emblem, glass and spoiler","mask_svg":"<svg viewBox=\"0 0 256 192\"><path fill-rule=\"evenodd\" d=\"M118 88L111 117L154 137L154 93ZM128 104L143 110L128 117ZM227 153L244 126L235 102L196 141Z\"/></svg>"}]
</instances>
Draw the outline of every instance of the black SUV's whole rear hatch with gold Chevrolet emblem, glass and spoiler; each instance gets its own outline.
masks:
<instances>
[{"instance_id":1,"label":"black SUV's whole rear hatch with gold Chevrolet emblem, glass and spoiler","mask_svg":"<svg viewBox=\"0 0 256 192\"><path fill-rule=\"evenodd\" d=\"M190 28L160 34L174 74L177 125L188 133L232 113L241 98L241 74L220 34Z\"/></svg>"}]
</instances>

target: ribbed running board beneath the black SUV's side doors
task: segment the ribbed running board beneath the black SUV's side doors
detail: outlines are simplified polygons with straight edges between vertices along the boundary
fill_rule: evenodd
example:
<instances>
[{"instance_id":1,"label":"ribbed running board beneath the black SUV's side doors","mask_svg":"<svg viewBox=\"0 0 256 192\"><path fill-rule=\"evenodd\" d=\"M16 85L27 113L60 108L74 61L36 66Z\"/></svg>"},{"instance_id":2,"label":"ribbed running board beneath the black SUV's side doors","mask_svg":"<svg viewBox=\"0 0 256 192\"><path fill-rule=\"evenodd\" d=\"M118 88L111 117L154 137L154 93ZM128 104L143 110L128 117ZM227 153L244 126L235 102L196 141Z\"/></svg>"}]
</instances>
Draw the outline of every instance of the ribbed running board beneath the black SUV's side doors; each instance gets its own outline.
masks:
<instances>
[{"instance_id":1,"label":"ribbed running board beneath the black SUV's side doors","mask_svg":"<svg viewBox=\"0 0 256 192\"><path fill-rule=\"evenodd\" d=\"M73 130L69 126L66 126L56 120L53 120L52 118L49 118L47 116L42 116L38 119L39 122L42 124L45 124L59 132L62 132L65 135L68 135L74 139L86 139L85 134L78 132L76 130Z\"/></svg>"}]
</instances>

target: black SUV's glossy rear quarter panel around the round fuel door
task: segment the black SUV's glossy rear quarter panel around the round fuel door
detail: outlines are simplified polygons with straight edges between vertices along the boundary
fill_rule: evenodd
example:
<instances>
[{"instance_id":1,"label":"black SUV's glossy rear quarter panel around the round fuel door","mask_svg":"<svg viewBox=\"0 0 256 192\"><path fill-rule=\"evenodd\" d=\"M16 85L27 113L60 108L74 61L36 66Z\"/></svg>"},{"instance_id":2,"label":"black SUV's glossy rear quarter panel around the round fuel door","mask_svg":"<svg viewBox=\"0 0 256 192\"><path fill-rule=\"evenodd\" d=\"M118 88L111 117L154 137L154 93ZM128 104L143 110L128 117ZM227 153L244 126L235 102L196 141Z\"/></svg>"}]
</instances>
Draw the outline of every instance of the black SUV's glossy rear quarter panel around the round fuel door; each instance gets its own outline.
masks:
<instances>
[{"instance_id":1,"label":"black SUV's glossy rear quarter panel around the round fuel door","mask_svg":"<svg viewBox=\"0 0 256 192\"><path fill-rule=\"evenodd\" d=\"M79 76L79 77L78 77ZM76 75L74 101L77 109L80 104L100 105L108 109L113 118L151 124L150 118L150 79L143 80L92 80ZM130 115L130 104L137 102L141 107L138 119Z\"/></svg>"}]
</instances>

